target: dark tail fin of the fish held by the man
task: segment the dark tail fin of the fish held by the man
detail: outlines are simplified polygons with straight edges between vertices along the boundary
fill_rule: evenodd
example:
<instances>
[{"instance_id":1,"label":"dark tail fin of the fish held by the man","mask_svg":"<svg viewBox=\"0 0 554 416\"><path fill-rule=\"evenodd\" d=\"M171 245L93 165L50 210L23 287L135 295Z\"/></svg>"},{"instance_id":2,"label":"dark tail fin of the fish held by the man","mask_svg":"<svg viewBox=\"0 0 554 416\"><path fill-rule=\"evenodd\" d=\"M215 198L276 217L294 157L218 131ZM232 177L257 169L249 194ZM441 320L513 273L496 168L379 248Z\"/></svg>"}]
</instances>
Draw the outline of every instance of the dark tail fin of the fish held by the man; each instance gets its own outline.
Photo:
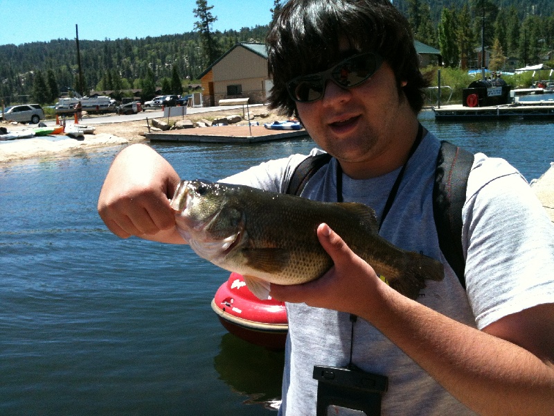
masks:
<instances>
[{"instance_id":1,"label":"dark tail fin of the fish held by the man","mask_svg":"<svg viewBox=\"0 0 554 416\"><path fill-rule=\"evenodd\" d=\"M408 252L407 268L404 275L389 282L391 288L410 299L417 299L420 291L425 288L425 280L443 280L445 271L443 263L424 254Z\"/></svg>"}]
</instances>

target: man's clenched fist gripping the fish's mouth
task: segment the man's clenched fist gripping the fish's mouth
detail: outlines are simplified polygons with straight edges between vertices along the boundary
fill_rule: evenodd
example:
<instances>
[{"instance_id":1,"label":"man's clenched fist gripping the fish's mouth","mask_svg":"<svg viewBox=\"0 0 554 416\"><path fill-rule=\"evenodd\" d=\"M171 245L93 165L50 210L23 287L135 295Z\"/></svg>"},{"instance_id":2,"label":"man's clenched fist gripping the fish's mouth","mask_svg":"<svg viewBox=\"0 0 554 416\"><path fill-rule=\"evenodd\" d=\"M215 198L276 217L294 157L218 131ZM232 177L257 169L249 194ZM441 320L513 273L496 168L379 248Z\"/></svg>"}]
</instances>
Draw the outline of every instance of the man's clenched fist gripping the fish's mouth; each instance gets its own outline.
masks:
<instances>
[{"instance_id":1,"label":"man's clenched fist gripping the fish's mouth","mask_svg":"<svg viewBox=\"0 0 554 416\"><path fill-rule=\"evenodd\" d=\"M184 243L169 205L179 179L166 159L149 146L129 146L109 168L98 197L98 214L123 239L140 236Z\"/></svg>"}]
</instances>

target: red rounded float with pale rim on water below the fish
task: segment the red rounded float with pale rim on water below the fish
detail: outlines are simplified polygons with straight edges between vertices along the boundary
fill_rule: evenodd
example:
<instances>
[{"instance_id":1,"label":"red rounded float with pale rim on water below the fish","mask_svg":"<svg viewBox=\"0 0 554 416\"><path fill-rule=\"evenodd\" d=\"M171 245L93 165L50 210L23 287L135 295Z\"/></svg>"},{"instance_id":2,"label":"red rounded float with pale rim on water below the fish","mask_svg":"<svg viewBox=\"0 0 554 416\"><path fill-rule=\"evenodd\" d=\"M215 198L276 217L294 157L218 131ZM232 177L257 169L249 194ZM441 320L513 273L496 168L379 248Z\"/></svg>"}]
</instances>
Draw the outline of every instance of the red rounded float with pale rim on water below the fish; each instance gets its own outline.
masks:
<instances>
[{"instance_id":1,"label":"red rounded float with pale rim on water below the fish","mask_svg":"<svg viewBox=\"0 0 554 416\"><path fill-rule=\"evenodd\" d=\"M249 291L242 275L231 273L229 280L217 289L212 309L235 336L262 347L285 348L289 329L285 304L259 300Z\"/></svg>"}]
</instances>

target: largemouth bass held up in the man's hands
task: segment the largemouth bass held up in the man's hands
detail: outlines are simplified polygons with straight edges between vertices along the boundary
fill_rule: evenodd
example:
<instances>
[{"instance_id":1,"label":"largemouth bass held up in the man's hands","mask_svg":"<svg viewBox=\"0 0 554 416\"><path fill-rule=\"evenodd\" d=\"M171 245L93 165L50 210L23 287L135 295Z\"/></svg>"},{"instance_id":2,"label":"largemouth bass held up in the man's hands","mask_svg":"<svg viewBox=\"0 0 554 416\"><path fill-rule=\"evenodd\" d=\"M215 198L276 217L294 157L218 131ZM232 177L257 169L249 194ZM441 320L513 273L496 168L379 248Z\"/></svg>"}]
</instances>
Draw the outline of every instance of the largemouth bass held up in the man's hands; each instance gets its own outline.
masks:
<instances>
[{"instance_id":1,"label":"largemouth bass held up in the man's hands","mask_svg":"<svg viewBox=\"0 0 554 416\"><path fill-rule=\"evenodd\" d=\"M196 254L243 275L260 299L267 299L269 283L302 284L331 268L317 239L321 223L402 295L415 299L425 279L443 279L442 263L379 236L375 211L363 204L183 180L170 205L177 211L177 229Z\"/></svg>"}]
</instances>

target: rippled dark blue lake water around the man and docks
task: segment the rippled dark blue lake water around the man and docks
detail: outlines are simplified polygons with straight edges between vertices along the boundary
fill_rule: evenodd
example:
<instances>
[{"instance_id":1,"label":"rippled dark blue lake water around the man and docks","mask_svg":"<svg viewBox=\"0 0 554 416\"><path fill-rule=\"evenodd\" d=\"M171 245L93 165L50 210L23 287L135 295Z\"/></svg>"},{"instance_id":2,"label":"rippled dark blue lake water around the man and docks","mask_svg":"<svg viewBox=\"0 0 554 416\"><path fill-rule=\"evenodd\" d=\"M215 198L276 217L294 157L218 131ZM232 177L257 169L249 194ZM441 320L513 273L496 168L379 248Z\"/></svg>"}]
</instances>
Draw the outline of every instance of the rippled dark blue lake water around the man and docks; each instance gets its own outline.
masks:
<instances>
[{"instance_id":1,"label":"rippled dark blue lake water around the man and docks","mask_svg":"<svg viewBox=\"0 0 554 416\"><path fill-rule=\"evenodd\" d=\"M554 161L547 121L420 120L528 180ZM207 180L312 147L154 145ZM226 333L210 307L229 273L186 246L118 239L98 217L119 150L0 164L0 414L275 415L283 353Z\"/></svg>"}]
</instances>

